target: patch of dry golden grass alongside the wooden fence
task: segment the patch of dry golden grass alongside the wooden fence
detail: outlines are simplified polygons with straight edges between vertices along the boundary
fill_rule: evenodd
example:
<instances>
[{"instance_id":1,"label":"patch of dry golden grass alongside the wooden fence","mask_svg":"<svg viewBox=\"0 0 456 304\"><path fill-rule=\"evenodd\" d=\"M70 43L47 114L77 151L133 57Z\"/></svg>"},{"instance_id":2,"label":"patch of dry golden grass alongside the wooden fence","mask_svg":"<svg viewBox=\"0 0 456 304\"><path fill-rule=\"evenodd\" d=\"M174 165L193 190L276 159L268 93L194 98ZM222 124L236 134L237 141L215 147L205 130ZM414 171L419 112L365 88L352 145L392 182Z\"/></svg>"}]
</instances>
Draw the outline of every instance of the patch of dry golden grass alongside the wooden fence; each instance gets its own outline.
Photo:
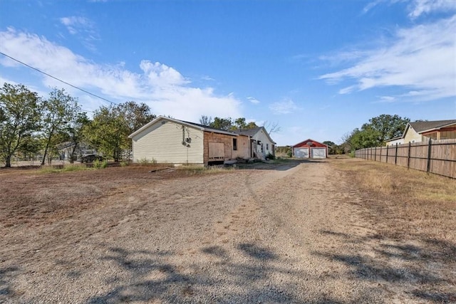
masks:
<instances>
[{"instance_id":1,"label":"patch of dry golden grass alongside the wooden fence","mask_svg":"<svg viewBox=\"0 0 456 304\"><path fill-rule=\"evenodd\" d=\"M456 179L364 159L337 159L380 234L456 241ZM418 233L419 231L419 233Z\"/></svg>"}]
</instances>

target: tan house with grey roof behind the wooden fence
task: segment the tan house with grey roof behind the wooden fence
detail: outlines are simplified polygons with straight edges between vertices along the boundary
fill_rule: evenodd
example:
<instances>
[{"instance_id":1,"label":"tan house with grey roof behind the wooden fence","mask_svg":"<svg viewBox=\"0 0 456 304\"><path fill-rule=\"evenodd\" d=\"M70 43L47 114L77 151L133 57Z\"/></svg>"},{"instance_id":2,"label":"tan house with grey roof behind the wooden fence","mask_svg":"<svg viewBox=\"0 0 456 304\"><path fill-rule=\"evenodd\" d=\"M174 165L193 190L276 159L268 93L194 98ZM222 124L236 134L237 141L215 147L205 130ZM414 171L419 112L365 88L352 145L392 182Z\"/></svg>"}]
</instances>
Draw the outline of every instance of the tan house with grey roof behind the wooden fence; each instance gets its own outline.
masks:
<instances>
[{"instance_id":1,"label":"tan house with grey roof behind the wooden fence","mask_svg":"<svg viewBox=\"0 0 456 304\"><path fill-rule=\"evenodd\" d=\"M434 120L409 122L400 140L393 139L386 145L408 144L409 142L425 142L427 140L456 139L456 120Z\"/></svg>"}]
</instances>

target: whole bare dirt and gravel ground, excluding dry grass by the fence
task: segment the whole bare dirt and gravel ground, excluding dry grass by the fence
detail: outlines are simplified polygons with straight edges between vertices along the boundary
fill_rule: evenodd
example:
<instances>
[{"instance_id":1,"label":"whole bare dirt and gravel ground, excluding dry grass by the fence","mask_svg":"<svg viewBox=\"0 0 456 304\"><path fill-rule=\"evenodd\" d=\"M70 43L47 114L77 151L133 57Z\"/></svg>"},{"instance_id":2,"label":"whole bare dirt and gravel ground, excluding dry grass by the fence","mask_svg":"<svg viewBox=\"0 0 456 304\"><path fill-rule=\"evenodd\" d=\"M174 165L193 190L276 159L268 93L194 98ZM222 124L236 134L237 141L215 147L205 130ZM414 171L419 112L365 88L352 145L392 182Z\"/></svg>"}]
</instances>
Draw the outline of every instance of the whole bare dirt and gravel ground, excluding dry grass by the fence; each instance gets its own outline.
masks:
<instances>
[{"instance_id":1,"label":"whole bare dirt and gravel ground, excluding dry grass by the fence","mask_svg":"<svg viewBox=\"0 0 456 304\"><path fill-rule=\"evenodd\" d=\"M380 234L336 162L1 169L0 303L455 303L454 234Z\"/></svg>"}]
</instances>

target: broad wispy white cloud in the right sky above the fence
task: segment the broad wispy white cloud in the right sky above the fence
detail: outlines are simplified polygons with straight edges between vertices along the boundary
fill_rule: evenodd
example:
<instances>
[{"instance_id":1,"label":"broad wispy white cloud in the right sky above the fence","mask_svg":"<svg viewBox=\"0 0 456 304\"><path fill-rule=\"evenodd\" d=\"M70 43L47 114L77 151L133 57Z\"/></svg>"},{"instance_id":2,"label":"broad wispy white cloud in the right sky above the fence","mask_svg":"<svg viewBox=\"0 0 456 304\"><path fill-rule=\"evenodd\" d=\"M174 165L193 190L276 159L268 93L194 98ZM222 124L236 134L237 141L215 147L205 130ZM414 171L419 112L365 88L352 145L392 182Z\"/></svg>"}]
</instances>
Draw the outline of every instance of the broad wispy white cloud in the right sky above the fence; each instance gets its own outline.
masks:
<instances>
[{"instance_id":1,"label":"broad wispy white cloud in the right sky above the fence","mask_svg":"<svg viewBox=\"0 0 456 304\"><path fill-rule=\"evenodd\" d=\"M386 45L367 51L349 68L321 75L328 83L355 81L339 90L402 86L421 92L422 100L456 95L456 16L435 23L401 28ZM356 57L355 56L355 57ZM346 55L343 55L346 57Z\"/></svg>"}]
</instances>

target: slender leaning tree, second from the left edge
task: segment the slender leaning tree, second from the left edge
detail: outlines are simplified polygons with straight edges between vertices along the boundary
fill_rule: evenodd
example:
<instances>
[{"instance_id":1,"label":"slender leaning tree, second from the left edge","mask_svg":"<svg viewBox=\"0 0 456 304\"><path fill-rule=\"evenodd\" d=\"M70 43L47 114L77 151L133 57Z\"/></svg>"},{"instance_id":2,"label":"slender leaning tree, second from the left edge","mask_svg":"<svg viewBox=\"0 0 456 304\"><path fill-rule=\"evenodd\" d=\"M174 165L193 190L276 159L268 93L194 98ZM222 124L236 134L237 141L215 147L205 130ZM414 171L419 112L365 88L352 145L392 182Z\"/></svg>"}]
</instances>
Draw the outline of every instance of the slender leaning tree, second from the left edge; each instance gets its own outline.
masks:
<instances>
[{"instance_id":1,"label":"slender leaning tree, second from the left edge","mask_svg":"<svg viewBox=\"0 0 456 304\"><path fill-rule=\"evenodd\" d=\"M68 122L77 115L81 110L78 106L76 98L65 93L64 89L58 90L54 88L49 93L49 98L43 102L43 120L42 132L44 137L44 153L41 160L41 166L46 160L46 156L56 141L56 135L63 133L68 127Z\"/></svg>"}]
</instances>

